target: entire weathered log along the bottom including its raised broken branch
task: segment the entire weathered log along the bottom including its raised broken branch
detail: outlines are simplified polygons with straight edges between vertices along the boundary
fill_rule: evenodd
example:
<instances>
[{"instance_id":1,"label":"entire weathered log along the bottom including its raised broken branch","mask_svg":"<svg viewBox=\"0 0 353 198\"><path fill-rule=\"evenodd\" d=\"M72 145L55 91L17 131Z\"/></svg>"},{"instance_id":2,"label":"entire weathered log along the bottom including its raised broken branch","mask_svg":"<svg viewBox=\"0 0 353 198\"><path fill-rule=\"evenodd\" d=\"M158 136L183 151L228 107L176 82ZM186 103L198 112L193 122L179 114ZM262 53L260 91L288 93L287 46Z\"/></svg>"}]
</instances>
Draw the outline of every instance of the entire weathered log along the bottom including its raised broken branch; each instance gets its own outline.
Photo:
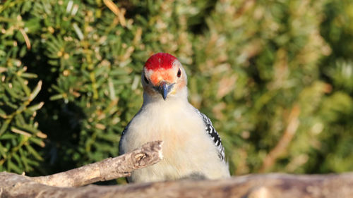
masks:
<instances>
[{"instance_id":1,"label":"entire weathered log along the bottom including its raised broken branch","mask_svg":"<svg viewBox=\"0 0 353 198\"><path fill-rule=\"evenodd\" d=\"M0 173L0 197L353 197L353 172L330 175L271 173L224 180L178 180L131 185L87 185L124 177L162 159L162 141L148 142L131 153L64 173L30 178Z\"/></svg>"}]
</instances>

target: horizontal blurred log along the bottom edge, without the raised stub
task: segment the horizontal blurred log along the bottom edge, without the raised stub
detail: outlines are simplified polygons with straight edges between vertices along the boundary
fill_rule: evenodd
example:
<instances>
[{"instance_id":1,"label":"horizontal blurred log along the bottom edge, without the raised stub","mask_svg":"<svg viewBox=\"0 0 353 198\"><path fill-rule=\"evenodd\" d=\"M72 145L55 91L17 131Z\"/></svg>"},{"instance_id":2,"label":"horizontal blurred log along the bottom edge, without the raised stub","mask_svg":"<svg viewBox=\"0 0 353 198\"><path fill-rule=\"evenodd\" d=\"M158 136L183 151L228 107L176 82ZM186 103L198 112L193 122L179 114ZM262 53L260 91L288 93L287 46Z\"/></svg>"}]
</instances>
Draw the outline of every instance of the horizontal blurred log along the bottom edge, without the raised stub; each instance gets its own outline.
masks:
<instances>
[{"instance_id":1,"label":"horizontal blurred log along the bottom edge, without the raised stub","mask_svg":"<svg viewBox=\"0 0 353 198\"><path fill-rule=\"evenodd\" d=\"M225 180L179 180L132 185L52 187L23 175L0 173L0 197L340 197L353 196L353 173L245 175Z\"/></svg>"}]
</instances>

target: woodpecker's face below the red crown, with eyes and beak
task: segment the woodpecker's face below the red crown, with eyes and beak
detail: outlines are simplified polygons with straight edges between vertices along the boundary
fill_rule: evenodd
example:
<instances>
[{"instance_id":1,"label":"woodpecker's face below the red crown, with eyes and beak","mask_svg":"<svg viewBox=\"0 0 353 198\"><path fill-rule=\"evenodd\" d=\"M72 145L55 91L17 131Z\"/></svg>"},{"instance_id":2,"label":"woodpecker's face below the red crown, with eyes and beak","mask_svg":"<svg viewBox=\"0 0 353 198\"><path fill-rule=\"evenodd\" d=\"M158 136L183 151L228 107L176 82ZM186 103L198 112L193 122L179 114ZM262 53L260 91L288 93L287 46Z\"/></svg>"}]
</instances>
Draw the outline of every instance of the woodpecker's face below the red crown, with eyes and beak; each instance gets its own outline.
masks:
<instances>
[{"instance_id":1,"label":"woodpecker's face below the red crown, with eyes and beak","mask_svg":"<svg viewBox=\"0 0 353 198\"><path fill-rule=\"evenodd\" d=\"M151 96L160 95L164 99L176 94L180 89L186 87L186 73L177 60L173 62L172 68L148 70L145 67L141 75L143 89Z\"/></svg>"}]
</instances>

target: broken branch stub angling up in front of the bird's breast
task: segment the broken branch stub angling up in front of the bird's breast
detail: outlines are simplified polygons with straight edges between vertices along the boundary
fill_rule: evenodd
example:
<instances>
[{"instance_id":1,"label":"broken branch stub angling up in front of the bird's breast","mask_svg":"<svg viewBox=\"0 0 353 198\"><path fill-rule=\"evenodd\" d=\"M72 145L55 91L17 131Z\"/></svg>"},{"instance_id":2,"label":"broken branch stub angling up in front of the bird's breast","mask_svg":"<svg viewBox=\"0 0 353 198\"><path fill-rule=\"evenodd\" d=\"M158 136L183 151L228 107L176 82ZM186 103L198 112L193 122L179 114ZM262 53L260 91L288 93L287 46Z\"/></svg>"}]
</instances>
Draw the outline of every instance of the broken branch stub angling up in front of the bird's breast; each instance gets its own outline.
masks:
<instances>
[{"instance_id":1,"label":"broken branch stub angling up in front of the bird's breast","mask_svg":"<svg viewBox=\"0 0 353 198\"><path fill-rule=\"evenodd\" d=\"M128 154L90 163L70 171L29 179L44 185L77 187L127 177L131 171L155 164L162 157L162 141L148 142Z\"/></svg>"}]
</instances>

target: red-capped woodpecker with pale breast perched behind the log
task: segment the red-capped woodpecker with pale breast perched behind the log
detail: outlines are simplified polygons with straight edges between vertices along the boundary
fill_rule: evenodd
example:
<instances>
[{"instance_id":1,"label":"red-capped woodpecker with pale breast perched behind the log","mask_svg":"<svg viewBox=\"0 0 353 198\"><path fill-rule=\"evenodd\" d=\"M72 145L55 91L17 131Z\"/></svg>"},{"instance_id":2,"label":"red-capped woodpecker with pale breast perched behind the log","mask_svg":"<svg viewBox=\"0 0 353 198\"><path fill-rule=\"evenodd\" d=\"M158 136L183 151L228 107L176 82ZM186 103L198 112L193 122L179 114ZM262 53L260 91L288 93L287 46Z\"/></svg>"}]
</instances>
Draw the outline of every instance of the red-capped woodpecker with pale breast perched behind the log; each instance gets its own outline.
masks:
<instances>
[{"instance_id":1,"label":"red-capped woodpecker with pale breast perched behind the log","mask_svg":"<svg viewBox=\"0 0 353 198\"><path fill-rule=\"evenodd\" d=\"M143 104L121 134L119 155L162 140L163 159L135 170L128 182L230 177L220 135L188 101L187 75L171 54L157 53L143 66Z\"/></svg>"}]
</instances>

